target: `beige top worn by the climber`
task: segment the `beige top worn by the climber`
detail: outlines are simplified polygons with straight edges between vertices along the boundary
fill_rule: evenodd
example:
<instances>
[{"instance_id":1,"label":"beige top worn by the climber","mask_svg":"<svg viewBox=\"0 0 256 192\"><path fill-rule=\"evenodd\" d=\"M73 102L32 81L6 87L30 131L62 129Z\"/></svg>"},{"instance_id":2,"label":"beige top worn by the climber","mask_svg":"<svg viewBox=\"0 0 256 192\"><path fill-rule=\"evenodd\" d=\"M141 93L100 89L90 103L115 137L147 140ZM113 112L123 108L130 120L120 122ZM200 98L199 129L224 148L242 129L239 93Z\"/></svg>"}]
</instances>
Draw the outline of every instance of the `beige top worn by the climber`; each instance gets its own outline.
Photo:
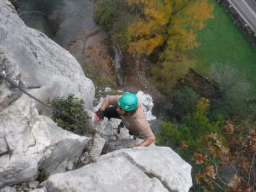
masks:
<instances>
[{"instance_id":1,"label":"beige top worn by the climber","mask_svg":"<svg viewBox=\"0 0 256 192\"><path fill-rule=\"evenodd\" d=\"M117 106L120 97L122 97L122 95L111 95L106 99L112 106ZM144 136L145 138L154 136L140 102L138 103L136 111L131 116L120 115L120 117L122 118L125 127L134 135Z\"/></svg>"}]
</instances>

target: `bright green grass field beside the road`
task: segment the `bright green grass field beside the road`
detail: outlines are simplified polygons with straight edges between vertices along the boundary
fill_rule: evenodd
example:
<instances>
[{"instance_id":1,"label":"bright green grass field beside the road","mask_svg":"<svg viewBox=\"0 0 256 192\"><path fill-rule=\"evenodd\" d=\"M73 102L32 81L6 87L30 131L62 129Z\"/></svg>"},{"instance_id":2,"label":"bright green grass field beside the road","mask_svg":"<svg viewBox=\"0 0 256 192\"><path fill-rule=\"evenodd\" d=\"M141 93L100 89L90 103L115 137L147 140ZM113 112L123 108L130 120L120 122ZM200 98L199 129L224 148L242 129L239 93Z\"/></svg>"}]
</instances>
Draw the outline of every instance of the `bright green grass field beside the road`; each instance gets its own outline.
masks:
<instances>
[{"instance_id":1,"label":"bright green grass field beside the road","mask_svg":"<svg viewBox=\"0 0 256 192\"><path fill-rule=\"evenodd\" d=\"M247 97L256 97L256 51L235 26L223 6L217 4L216 0L209 2L215 4L215 18L210 19L206 28L198 33L200 46L189 52L189 56L195 60L195 70L207 76L212 63L229 63L241 74L246 74L250 83Z\"/></svg>"}]
</instances>

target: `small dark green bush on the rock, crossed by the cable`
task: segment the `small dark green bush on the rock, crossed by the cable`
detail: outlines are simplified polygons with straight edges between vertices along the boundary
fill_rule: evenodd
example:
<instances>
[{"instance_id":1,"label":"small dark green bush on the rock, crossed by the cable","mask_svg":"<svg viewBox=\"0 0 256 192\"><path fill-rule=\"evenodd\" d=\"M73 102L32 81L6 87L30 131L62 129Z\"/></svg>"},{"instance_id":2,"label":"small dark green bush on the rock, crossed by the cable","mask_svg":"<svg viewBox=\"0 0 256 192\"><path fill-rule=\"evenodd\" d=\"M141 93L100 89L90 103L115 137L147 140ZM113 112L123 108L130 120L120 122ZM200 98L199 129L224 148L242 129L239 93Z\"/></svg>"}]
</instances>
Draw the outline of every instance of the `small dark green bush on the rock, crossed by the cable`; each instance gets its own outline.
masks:
<instances>
[{"instance_id":1,"label":"small dark green bush on the rock, crossed by the cable","mask_svg":"<svg viewBox=\"0 0 256 192\"><path fill-rule=\"evenodd\" d=\"M58 126L68 131L81 135L88 134L88 125L86 125L86 123L88 120L90 120L90 116L84 109L83 104L84 100L74 97L73 94L68 95L66 99L56 97L55 99L51 100L51 106L58 109L65 115L59 113L58 111L53 111L52 120L54 120ZM80 122L72 120L72 118L68 117L67 115L72 116ZM84 122L84 124L81 122Z\"/></svg>"}]
</instances>

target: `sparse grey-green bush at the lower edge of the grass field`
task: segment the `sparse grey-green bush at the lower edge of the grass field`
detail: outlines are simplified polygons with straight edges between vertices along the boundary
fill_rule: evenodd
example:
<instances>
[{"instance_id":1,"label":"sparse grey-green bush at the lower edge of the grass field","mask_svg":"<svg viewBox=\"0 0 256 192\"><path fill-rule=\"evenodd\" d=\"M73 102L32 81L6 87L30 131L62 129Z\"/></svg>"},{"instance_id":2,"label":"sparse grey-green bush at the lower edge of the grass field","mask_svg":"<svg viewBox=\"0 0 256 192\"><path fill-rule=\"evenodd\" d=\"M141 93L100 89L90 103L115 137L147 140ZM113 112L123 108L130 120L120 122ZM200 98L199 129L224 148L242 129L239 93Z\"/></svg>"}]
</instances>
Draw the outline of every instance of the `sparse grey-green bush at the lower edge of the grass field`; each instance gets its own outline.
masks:
<instances>
[{"instance_id":1,"label":"sparse grey-green bush at the lower edge of the grass field","mask_svg":"<svg viewBox=\"0 0 256 192\"><path fill-rule=\"evenodd\" d=\"M213 63L209 78L218 83L222 95L212 104L213 114L239 118L250 115L251 112L246 106L246 95L250 90L250 84L246 81L245 74L226 63Z\"/></svg>"}]
</instances>

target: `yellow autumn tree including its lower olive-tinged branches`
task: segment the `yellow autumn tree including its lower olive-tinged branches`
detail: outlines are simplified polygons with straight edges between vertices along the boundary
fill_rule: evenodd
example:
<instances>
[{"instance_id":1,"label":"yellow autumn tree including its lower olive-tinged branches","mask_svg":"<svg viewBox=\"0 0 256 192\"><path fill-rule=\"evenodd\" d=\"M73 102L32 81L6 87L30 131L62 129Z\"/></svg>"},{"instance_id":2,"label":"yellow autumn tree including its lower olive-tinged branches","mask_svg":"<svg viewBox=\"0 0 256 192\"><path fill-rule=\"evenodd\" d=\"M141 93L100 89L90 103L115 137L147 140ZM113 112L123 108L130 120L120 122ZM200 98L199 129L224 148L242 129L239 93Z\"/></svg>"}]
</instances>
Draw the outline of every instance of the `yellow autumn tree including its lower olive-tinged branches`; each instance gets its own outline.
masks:
<instances>
[{"instance_id":1,"label":"yellow autumn tree including its lower olive-tinged branches","mask_svg":"<svg viewBox=\"0 0 256 192\"><path fill-rule=\"evenodd\" d=\"M213 18L207 0L127 0L141 9L140 19L128 26L129 52L157 55L150 70L152 84L170 95L180 77L194 67L184 51L198 47L196 33Z\"/></svg>"}]
</instances>

